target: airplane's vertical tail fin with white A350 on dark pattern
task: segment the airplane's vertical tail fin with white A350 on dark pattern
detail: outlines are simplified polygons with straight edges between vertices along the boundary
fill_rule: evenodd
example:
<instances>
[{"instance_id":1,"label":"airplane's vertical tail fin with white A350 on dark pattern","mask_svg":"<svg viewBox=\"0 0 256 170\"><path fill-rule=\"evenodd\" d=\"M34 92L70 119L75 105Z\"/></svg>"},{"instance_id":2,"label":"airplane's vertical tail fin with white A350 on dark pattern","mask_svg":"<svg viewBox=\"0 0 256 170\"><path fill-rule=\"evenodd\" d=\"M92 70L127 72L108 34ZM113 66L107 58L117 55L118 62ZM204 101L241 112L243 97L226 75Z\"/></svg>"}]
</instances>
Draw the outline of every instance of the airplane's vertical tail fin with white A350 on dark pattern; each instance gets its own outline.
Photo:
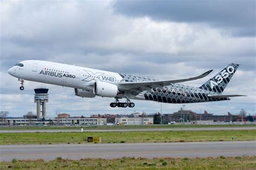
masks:
<instances>
[{"instance_id":1,"label":"airplane's vertical tail fin with white A350 on dark pattern","mask_svg":"<svg viewBox=\"0 0 256 170\"><path fill-rule=\"evenodd\" d=\"M217 75L208 80L200 89L214 91L215 93L221 94L226 88L228 82L230 82L232 76L238 68L238 64L230 63L224 69L222 69Z\"/></svg>"}]
</instances>

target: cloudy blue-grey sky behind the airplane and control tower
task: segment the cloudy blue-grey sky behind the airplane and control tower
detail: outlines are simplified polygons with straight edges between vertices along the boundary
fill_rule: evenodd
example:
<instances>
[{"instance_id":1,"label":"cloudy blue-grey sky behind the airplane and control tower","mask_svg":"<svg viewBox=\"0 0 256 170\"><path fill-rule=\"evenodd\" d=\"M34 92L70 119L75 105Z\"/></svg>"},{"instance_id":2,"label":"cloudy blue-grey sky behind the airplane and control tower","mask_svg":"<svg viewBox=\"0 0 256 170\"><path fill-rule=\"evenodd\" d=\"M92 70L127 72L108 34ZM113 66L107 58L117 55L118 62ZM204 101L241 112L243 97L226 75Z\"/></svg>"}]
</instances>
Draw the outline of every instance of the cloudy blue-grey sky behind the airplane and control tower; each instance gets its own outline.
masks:
<instances>
[{"instance_id":1,"label":"cloudy blue-grey sky behind the airplane and control tower","mask_svg":"<svg viewBox=\"0 0 256 170\"><path fill-rule=\"evenodd\" d=\"M81 98L74 89L25 81L6 71L22 60L70 65L173 80L214 71L184 82L199 87L228 63L241 66L223 94L247 97L186 104L186 110L215 115L256 110L255 1L0 1L0 110L9 116L36 113L34 88L49 88L47 115L170 114L183 104L136 101L110 108L113 98Z\"/></svg>"}]
</instances>

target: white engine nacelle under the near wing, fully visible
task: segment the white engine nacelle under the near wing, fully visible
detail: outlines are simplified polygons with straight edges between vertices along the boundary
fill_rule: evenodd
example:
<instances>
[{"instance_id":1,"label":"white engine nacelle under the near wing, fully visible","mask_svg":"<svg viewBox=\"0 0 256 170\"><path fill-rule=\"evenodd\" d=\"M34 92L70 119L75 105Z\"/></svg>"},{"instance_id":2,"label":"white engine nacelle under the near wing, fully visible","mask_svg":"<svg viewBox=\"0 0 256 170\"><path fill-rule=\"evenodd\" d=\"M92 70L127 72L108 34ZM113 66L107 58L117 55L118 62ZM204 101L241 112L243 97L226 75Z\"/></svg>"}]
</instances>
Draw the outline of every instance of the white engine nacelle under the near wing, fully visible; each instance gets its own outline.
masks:
<instances>
[{"instance_id":1,"label":"white engine nacelle under the near wing, fully visible","mask_svg":"<svg viewBox=\"0 0 256 170\"><path fill-rule=\"evenodd\" d=\"M118 94L118 87L111 83L96 81L93 87L93 94L102 97L116 97Z\"/></svg>"}]
</instances>

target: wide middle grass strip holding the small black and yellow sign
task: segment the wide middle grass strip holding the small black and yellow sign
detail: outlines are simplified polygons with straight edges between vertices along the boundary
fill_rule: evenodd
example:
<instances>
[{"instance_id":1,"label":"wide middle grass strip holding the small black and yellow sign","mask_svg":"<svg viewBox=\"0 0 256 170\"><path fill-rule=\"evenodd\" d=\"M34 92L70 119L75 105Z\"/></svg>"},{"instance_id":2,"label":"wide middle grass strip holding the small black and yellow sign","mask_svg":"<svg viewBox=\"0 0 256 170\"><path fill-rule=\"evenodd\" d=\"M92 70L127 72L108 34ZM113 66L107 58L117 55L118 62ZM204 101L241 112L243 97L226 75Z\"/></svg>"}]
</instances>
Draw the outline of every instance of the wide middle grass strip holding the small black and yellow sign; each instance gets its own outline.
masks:
<instances>
[{"instance_id":1,"label":"wide middle grass strip holding the small black and yellow sign","mask_svg":"<svg viewBox=\"0 0 256 170\"><path fill-rule=\"evenodd\" d=\"M87 137L102 143L256 140L256 130L0 133L0 144L82 144Z\"/></svg>"}]
</instances>

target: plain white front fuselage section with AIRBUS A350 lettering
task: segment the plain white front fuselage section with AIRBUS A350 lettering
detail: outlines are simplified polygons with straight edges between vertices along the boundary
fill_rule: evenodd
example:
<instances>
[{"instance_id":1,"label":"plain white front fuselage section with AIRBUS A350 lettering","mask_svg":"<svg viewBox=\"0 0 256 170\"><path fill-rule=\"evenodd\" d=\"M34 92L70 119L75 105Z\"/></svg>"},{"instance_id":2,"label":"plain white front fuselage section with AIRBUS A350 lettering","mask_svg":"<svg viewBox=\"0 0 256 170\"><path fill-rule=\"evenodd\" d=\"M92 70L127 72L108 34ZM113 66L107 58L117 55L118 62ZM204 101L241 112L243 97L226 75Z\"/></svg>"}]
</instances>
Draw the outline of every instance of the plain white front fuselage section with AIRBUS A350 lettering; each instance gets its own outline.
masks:
<instances>
[{"instance_id":1,"label":"plain white front fuselage section with AIRBUS A350 lettering","mask_svg":"<svg viewBox=\"0 0 256 170\"><path fill-rule=\"evenodd\" d=\"M55 84L57 86L89 90L89 83L92 80L110 83L122 80L118 73L63 63L40 60L26 60L21 63L23 63L23 67L11 67L8 73L19 79Z\"/></svg>"}]
</instances>

